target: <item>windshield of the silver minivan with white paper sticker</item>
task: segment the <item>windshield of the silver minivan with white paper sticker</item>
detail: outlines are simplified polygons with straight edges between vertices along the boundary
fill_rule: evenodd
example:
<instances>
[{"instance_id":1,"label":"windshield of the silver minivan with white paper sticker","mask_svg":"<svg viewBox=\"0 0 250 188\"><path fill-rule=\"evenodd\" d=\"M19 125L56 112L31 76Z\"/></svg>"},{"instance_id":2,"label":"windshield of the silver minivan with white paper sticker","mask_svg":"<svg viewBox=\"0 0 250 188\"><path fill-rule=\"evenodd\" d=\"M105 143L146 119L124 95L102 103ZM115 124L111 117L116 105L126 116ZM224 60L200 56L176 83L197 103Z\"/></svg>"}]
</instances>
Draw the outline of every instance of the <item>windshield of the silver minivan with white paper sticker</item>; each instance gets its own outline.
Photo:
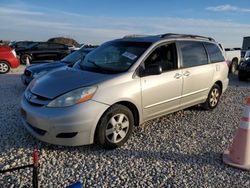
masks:
<instances>
[{"instance_id":1,"label":"windshield of the silver minivan with white paper sticker","mask_svg":"<svg viewBox=\"0 0 250 188\"><path fill-rule=\"evenodd\" d=\"M151 43L112 41L89 53L80 63L83 70L104 73L127 71Z\"/></svg>"}]
</instances>

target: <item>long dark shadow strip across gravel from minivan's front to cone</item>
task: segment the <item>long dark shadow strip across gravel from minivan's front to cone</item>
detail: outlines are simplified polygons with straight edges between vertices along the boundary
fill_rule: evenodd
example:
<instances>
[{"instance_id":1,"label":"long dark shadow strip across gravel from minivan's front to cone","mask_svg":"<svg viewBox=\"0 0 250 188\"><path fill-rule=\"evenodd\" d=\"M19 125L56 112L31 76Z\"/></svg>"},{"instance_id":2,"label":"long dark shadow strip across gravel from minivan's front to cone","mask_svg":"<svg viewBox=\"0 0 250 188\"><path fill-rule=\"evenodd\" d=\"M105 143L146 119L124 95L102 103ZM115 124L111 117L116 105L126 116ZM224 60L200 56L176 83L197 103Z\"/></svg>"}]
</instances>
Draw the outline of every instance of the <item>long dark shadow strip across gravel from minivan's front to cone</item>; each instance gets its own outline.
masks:
<instances>
[{"instance_id":1,"label":"long dark shadow strip across gravel from minivan's front to cone","mask_svg":"<svg viewBox=\"0 0 250 188\"><path fill-rule=\"evenodd\" d=\"M71 153L72 155L82 154L84 156L89 156L90 158L93 155L96 158L106 158L108 160L117 160L117 159L126 159L126 160L144 160L144 161L155 161L163 163L174 163L174 164L185 164L191 166L198 166L202 168L204 166L212 166L217 170L226 170L228 168L222 161L222 153L217 153L214 151L204 152L199 154L187 154L181 152L172 152L172 151L144 151L144 150L133 150L127 149L126 147L117 148L114 150L105 150L99 146L93 144L88 146L78 146L78 147L65 147L65 146L53 146L45 144L42 147L47 151L61 151L66 153ZM234 168L234 171L239 171Z\"/></svg>"}]
</instances>

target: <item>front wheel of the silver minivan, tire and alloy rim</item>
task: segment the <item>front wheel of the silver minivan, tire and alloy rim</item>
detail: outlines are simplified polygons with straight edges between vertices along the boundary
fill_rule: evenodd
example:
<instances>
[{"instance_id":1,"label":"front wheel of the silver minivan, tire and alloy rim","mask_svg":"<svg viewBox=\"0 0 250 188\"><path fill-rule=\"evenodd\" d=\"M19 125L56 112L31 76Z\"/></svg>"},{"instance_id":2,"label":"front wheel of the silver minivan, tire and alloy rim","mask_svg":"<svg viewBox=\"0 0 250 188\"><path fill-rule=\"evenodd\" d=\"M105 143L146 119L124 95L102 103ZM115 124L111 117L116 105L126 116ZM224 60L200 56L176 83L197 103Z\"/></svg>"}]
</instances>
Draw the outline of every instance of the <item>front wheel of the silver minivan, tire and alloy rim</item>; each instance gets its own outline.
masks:
<instances>
[{"instance_id":1,"label":"front wheel of the silver minivan, tire and alloy rim","mask_svg":"<svg viewBox=\"0 0 250 188\"><path fill-rule=\"evenodd\" d=\"M111 106L101 117L95 132L95 142L105 149L122 146L134 128L134 116L123 105Z\"/></svg>"}]
</instances>

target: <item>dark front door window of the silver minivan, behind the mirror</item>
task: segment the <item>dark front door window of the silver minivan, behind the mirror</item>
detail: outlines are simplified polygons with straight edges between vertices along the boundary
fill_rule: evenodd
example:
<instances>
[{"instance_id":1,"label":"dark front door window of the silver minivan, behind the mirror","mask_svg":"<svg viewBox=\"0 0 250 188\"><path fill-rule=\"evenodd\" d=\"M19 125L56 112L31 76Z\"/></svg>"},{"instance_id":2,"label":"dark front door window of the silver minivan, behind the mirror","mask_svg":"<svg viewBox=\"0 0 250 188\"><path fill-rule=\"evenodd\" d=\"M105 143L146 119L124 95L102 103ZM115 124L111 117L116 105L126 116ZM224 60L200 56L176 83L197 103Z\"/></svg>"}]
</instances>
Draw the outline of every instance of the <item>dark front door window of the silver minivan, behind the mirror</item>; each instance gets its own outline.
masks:
<instances>
[{"instance_id":1,"label":"dark front door window of the silver minivan, behind the mirror","mask_svg":"<svg viewBox=\"0 0 250 188\"><path fill-rule=\"evenodd\" d=\"M156 48L145 60L145 69L150 65L160 65L163 72L177 68L176 46L174 43Z\"/></svg>"}]
</instances>

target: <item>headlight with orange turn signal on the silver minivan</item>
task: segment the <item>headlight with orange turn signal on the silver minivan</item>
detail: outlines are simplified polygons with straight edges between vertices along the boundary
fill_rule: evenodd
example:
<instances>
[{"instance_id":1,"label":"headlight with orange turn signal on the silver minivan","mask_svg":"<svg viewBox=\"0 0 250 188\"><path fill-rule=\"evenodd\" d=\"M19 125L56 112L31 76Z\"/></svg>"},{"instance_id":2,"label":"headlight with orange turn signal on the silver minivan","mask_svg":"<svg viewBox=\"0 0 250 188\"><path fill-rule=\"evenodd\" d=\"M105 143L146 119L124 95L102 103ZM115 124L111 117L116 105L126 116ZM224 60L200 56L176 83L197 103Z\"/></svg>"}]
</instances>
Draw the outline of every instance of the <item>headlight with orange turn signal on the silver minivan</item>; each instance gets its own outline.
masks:
<instances>
[{"instance_id":1,"label":"headlight with orange turn signal on the silver minivan","mask_svg":"<svg viewBox=\"0 0 250 188\"><path fill-rule=\"evenodd\" d=\"M70 91L62 96L57 97L51 101L47 107L65 107L79 104L92 99L97 87L84 87Z\"/></svg>"}]
</instances>

